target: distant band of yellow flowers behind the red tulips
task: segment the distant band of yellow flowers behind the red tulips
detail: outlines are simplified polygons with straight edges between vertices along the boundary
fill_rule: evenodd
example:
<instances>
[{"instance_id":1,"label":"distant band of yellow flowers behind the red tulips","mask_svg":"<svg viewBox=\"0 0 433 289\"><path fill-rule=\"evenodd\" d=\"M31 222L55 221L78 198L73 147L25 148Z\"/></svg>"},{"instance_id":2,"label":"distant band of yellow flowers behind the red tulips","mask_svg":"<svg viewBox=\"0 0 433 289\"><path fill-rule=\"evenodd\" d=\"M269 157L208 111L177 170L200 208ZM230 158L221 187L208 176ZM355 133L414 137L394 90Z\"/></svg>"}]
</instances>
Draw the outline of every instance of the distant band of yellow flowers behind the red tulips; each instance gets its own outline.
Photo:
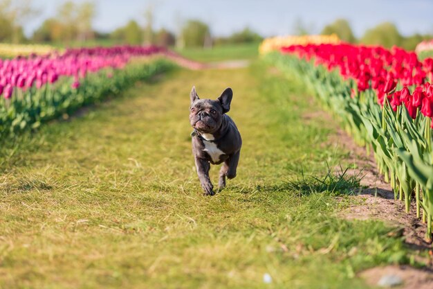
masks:
<instances>
[{"instance_id":1,"label":"distant band of yellow flowers behind the red tulips","mask_svg":"<svg viewBox=\"0 0 433 289\"><path fill-rule=\"evenodd\" d=\"M271 51L279 51L284 46L306 45L306 44L338 44L340 39L337 35L302 35L302 36L277 36L266 38L259 46L260 54L266 54Z\"/></svg>"}]
</instances>

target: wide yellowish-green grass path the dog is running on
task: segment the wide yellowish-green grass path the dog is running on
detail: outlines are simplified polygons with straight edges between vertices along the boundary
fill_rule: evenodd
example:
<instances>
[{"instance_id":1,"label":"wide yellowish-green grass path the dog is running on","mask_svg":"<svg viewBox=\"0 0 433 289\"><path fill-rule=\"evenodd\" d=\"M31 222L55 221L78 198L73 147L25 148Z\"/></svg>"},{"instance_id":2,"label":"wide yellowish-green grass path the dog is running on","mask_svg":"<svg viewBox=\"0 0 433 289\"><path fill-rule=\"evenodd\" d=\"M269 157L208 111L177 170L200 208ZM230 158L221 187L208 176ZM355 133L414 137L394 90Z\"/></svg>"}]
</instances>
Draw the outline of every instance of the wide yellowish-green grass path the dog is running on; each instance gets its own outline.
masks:
<instances>
[{"instance_id":1,"label":"wide yellowish-green grass path the dog is running on","mask_svg":"<svg viewBox=\"0 0 433 289\"><path fill-rule=\"evenodd\" d=\"M212 98L232 87L243 137L237 178L213 198L194 170L192 85ZM366 288L356 272L407 252L300 181L344 154L324 145L332 124L303 117L315 110L303 89L261 64L180 69L6 144L0 288Z\"/></svg>"}]
</instances>

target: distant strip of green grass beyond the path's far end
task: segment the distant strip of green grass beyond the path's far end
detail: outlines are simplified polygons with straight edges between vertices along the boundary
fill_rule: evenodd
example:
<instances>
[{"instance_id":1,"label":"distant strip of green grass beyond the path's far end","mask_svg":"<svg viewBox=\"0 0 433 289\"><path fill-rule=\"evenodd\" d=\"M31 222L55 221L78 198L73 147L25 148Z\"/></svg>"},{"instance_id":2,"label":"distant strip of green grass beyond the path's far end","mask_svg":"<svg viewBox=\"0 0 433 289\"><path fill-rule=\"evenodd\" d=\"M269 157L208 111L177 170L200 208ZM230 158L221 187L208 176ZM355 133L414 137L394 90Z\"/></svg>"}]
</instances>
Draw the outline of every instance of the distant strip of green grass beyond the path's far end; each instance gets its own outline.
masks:
<instances>
[{"instance_id":1,"label":"distant strip of green grass beyond the path's far end","mask_svg":"<svg viewBox=\"0 0 433 289\"><path fill-rule=\"evenodd\" d=\"M223 60L252 60L259 55L259 43L227 44L209 49L185 48L176 49L185 58L202 62L218 62Z\"/></svg>"}]
</instances>

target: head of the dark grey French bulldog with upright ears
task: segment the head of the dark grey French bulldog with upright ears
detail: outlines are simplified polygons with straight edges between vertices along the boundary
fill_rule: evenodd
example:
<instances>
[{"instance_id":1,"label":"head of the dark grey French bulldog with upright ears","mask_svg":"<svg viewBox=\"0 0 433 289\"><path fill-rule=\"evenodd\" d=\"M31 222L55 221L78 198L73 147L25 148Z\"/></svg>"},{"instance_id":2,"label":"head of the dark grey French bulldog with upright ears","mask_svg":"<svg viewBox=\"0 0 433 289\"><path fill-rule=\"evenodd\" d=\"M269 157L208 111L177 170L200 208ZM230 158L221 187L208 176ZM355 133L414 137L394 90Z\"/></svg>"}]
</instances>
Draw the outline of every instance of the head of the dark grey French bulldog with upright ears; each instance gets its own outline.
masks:
<instances>
[{"instance_id":1,"label":"head of the dark grey French bulldog with upright ears","mask_svg":"<svg viewBox=\"0 0 433 289\"><path fill-rule=\"evenodd\" d=\"M223 114L230 110L233 92L228 88L216 100L200 99L196 88L190 94L190 123L199 132L212 134L221 127Z\"/></svg>"}]
</instances>

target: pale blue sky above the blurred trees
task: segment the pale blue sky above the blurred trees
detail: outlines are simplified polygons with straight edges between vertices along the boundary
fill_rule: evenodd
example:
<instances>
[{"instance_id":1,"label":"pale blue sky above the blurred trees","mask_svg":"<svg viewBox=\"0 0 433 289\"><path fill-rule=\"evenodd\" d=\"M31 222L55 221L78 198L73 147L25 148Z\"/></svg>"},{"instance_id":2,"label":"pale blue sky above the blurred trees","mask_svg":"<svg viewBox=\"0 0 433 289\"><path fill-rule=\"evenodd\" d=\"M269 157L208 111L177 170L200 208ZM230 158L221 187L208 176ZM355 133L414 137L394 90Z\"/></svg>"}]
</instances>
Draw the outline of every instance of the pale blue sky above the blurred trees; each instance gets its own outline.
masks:
<instances>
[{"instance_id":1,"label":"pale blue sky above the blurred trees","mask_svg":"<svg viewBox=\"0 0 433 289\"><path fill-rule=\"evenodd\" d=\"M287 35L294 32L297 19L313 33L336 18L349 19L360 37L368 28L383 21L394 22L400 33L433 33L433 0L93 0L98 8L93 26L109 32L129 19L144 23L147 6L154 7L155 28L176 32L186 19L201 19L214 35L249 26L261 35ZM63 0L33 0L42 15L26 26L30 34L44 18L55 16ZM82 2L75 0L74 2Z\"/></svg>"}]
</instances>

